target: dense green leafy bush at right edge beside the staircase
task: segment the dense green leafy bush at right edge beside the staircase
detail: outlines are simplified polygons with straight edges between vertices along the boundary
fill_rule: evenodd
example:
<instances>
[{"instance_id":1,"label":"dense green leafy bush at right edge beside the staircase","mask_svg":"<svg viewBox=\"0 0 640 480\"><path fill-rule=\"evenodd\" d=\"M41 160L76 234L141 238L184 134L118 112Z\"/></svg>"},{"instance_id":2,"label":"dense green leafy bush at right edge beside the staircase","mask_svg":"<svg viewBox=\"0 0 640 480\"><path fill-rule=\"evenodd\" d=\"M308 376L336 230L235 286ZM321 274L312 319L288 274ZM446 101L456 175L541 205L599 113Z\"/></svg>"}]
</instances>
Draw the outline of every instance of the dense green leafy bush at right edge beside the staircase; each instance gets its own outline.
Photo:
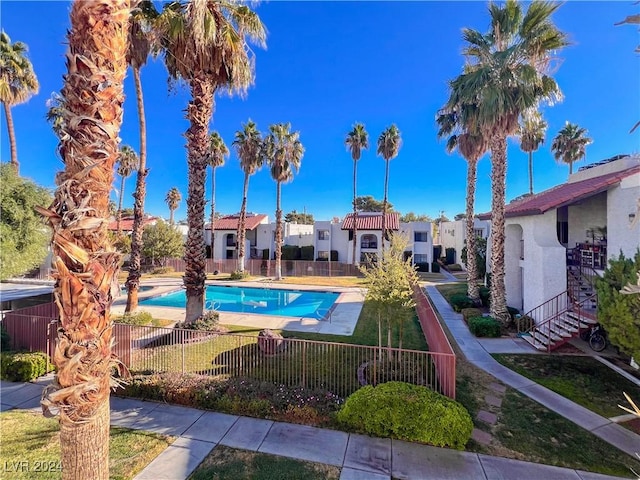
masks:
<instances>
[{"instance_id":1,"label":"dense green leafy bush at right edge beside the staircase","mask_svg":"<svg viewBox=\"0 0 640 480\"><path fill-rule=\"evenodd\" d=\"M620 252L617 259L609 260L602 278L596 280L598 321L611 343L636 359L640 358L640 295L627 294L624 288L638 281L638 272L640 249L633 259Z\"/></svg>"}]
</instances>

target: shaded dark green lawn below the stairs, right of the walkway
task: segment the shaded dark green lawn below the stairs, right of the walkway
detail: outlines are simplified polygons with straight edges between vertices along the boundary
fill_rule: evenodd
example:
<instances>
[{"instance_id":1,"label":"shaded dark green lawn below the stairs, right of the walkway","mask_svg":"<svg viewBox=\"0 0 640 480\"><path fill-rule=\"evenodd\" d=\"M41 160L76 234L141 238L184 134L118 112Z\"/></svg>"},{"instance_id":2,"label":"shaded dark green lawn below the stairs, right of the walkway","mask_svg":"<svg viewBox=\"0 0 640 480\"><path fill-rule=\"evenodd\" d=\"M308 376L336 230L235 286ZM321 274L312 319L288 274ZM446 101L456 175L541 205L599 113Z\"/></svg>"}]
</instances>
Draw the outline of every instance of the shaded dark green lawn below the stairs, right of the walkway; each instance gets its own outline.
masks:
<instances>
[{"instance_id":1,"label":"shaded dark green lawn below the stairs, right of the walkway","mask_svg":"<svg viewBox=\"0 0 640 480\"><path fill-rule=\"evenodd\" d=\"M603 417L625 413L622 392L640 399L640 387L589 356L569 355L493 355L493 357L531 380L559 393Z\"/></svg>"}]
</instances>

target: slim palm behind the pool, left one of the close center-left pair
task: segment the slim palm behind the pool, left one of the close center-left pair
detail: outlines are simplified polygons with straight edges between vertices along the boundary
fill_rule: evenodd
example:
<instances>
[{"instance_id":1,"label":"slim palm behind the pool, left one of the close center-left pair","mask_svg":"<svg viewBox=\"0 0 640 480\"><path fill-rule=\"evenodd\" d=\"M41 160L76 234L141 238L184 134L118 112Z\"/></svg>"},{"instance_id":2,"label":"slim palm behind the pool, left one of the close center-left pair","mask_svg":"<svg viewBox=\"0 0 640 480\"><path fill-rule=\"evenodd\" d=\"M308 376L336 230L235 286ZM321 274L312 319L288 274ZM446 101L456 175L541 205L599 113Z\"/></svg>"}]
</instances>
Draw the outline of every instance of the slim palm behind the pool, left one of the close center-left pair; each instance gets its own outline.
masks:
<instances>
[{"instance_id":1,"label":"slim palm behind the pool, left one of the close center-left pair","mask_svg":"<svg viewBox=\"0 0 640 480\"><path fill-rule=\"evenodd\" d=\"M242 187L242 207L238 219L238 233L236 235L236 248L238 249L238 271L244 272L244 239L246 235L247 193L249 191L249 177L256 173L264 163L262 149L262 135L256 128L256 124L249 121L242 125L242 130L236 132L233 146L240 159L240 168L244 172L244 184Z\"/></svg>"}]
</instances>

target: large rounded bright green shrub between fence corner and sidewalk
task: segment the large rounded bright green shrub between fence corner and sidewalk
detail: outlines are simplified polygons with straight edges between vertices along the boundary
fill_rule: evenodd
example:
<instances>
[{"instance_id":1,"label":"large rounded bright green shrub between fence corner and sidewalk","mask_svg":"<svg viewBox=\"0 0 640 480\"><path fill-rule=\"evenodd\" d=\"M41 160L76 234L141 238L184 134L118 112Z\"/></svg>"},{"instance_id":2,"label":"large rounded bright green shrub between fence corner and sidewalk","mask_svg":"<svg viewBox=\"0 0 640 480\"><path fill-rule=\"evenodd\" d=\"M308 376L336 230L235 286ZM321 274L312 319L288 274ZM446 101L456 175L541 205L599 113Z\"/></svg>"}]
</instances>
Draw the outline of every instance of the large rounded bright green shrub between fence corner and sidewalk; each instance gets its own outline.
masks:
<instances>
[{"instance_id":1,"label":"large rounded bright green shrub between fence corner and sidewalk","mask_svg":"<svg viewBox=\"0 0 640 480\"><path fill-rule=\"evenodd\" d=\"M463 450L473 422L458 402L426 387L403 382L367 385L347 398L337 420L376 437Z\"/></svg>"}]
</instances>

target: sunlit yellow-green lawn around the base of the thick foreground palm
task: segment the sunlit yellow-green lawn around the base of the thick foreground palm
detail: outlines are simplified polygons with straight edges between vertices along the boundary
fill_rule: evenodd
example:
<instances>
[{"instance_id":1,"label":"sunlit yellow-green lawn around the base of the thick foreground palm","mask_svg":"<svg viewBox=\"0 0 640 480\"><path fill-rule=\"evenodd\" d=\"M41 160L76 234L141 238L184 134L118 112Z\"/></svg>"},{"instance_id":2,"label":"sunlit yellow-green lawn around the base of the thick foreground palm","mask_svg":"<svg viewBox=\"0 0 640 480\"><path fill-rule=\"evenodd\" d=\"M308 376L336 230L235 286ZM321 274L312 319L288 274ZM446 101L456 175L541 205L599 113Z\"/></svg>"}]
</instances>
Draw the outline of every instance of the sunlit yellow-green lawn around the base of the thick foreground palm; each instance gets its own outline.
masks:
<instances>
[{"instance_id":1,"label":"sunlit yellow-green lawn around the base of the thick foreground palm","mask_svg":"<svg viewBox=\"0 0 640 480\"><path fill-rule=\"evenodd\" d=\"M39 412L10 410L0 414L2 427L1 478L12 480L59 479L60 427L57 419ZM111 427L109 470L111 479L130 479L173 443L166 435ZM20 463L24 462L24 463ZM11 468L13 466L28 466ZM47 465L48 472L35 472ZM9 473L8 468L11 469ZM16 471L17 470L17 471Z\"/></svg>"}]
</instances>

